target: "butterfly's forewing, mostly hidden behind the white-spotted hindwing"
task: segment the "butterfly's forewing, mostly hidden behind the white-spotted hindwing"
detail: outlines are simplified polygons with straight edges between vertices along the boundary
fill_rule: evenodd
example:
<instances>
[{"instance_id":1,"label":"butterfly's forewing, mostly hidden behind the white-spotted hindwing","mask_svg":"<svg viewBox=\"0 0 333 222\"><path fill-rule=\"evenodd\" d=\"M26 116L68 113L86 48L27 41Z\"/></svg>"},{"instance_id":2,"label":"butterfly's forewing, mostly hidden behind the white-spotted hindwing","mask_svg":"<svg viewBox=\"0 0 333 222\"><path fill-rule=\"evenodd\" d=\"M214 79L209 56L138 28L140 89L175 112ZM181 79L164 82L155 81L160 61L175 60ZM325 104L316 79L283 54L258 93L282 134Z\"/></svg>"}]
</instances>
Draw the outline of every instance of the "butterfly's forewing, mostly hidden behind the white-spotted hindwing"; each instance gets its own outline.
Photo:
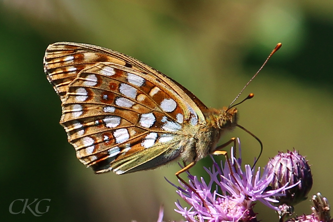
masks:
<instances>
[{"instance_id":1,"label":"butterfly's forewing, mostly hidden behind the white-spotted hindwing","mask_svg":"<svg viewBox=\"0 0 333 222\"><path fill-rule=\"evenodd\" d=\"M44 56L44 71L47 79L63 101L68 85L76 78L78 73L98 62L112 62L148 75L157 76L161 81L180 88L180 91L186 94L184 96L180 92L182 94L180 96L183 96L184 99L192 100L196 104L194 107L198 107L201 110L208 109L185 87L158 70L128 55L95 45L73 42L57 42L49 45ZM177 87L175 90L177 90Z\"/></svg>"}]
</instances>

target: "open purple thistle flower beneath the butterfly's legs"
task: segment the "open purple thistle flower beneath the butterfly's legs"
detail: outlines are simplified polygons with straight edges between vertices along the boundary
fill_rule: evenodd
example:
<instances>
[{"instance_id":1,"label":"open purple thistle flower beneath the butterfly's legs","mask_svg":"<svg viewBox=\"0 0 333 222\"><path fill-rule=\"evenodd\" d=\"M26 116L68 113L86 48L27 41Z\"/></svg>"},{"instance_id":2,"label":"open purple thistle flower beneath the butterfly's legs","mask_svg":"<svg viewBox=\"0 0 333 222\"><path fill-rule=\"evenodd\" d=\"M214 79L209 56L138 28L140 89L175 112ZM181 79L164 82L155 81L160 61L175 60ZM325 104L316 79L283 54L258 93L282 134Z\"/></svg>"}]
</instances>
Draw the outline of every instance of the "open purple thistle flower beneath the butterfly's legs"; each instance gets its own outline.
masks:
<instances>
[{"instance_id":1,"label":"open purple thistle flower beneath the butterfly's legs","mask_svg":"<svg viewBox=\"0 0 333 222\"><path fill-rule=\"evenodd\" d=\"M238 143L240 153L239 139ZM231 153L233 153L233 148ZM281 192L292 187L287 187L288 184L285 184L275 190L266 190L274 174L269 174L266 168L261 174L260 167L255 171L249 165L245 165L245 171L243 171L241 169L241 158L236 159L233 155L231 156L232 173L230 173L227 162L223 167L222 161L220 165L214 159L213 161L212 168L204 168L210 176L208 184L202 177L198 180L196 176L187 172L189 185L194 188L196 193L180 181L179 183L184 189L168 181L178 188L176 192L191 206L187 208L181 206L179 201L175 202L177 207L175 211L180 213L188 222L255 222L257 221L256 214L252 210L254 201L261 201L266 206L278 210L276 206L271 204L271 202L278 202L272 196L284 195ZM217 193L218 188L221 189L221 194Z\"/></svg>"}]
</instances>

